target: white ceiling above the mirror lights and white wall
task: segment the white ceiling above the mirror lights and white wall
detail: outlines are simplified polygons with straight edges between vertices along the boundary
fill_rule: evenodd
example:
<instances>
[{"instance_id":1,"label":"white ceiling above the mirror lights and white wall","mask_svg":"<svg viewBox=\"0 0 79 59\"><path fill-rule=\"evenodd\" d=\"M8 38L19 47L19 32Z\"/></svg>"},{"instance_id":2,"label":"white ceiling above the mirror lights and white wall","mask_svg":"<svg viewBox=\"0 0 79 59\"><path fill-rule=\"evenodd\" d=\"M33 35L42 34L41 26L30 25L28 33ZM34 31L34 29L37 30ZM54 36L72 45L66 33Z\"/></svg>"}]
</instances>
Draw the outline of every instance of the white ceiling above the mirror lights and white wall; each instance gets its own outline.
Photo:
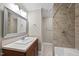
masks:
<instances>
[{"instance_id":1,"label":"white ceiling above the mirror lights and white wall","mask_svg":"<svg viewBox=\"0 0 79 59\"><path fill-rule=\"evenodd\" d=\"M40 8L49 10L52 8L53 3L19 3L18 5L27 11L32 11Z\"/></svg>"}]
</instances>

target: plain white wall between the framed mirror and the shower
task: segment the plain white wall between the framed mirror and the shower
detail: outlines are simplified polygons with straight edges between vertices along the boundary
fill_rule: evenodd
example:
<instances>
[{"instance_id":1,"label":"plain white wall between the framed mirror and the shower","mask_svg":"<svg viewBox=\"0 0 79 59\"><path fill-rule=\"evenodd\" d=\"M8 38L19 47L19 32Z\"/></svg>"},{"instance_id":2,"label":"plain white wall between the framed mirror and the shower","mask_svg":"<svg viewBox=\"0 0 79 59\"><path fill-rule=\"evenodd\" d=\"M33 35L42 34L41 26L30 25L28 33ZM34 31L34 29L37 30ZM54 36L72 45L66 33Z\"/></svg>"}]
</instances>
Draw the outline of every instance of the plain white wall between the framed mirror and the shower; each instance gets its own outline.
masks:
<instances>
[{"instance_id":1,"label":"plain white wall between the framed mirror and the shower","mask_svg":"<svg viewBox=\"0 0 79 59\"><path fill-rule=\"evenodd\" d=\"M28 12L29 36L35 36L39 39L39 49L42 41L42 16L41 9Z\"/></svg>"}]
</instances>

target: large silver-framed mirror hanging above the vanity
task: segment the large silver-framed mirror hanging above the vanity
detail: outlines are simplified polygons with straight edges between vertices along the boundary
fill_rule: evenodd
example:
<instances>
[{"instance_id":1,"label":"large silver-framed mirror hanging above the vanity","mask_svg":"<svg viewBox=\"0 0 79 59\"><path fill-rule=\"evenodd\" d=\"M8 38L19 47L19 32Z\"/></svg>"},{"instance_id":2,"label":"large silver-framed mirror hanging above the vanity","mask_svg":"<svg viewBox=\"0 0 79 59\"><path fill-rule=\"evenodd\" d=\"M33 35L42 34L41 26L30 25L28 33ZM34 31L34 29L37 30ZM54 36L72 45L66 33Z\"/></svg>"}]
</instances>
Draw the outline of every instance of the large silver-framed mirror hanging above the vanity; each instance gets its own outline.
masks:
<instances>
[{"instance_id":1,"label":"large silver-framed mirror hanging above the vanity","mask_svg":"<svg viewBox=\"0 0 79 59\"><path fill-rule=\"evenodd\" d=\"M14 11L5 7L4 9L4 31L3 37L13 37L22 33L28 33L28 21L26 18L15 13Z\"/></svg>"}]
</instances>

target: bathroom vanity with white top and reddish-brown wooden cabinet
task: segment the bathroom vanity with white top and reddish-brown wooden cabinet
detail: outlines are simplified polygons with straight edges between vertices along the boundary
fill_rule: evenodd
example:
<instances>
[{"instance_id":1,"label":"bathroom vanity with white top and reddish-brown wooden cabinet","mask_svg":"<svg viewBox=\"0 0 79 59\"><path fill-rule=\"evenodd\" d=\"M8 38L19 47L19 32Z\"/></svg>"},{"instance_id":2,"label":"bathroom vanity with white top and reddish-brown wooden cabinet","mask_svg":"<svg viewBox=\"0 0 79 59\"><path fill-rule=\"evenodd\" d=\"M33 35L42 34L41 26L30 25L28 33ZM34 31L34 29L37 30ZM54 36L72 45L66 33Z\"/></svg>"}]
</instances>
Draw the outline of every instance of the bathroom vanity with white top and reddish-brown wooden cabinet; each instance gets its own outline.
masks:
<instances>
[{"instance_id":1,"label":"bathroom vanity with white top and reddish-brown wooden cabinet","mask_svg":"<svg viewBox=\"0 0 79 59\"><path fill-rule=\"evenodd\" d=\"M18 40L3 46L3 56L37 56L38 55L38 39L31 38L30 41ZM26 43L27 42L27 43Z\"/></svg>"}]
</instances>

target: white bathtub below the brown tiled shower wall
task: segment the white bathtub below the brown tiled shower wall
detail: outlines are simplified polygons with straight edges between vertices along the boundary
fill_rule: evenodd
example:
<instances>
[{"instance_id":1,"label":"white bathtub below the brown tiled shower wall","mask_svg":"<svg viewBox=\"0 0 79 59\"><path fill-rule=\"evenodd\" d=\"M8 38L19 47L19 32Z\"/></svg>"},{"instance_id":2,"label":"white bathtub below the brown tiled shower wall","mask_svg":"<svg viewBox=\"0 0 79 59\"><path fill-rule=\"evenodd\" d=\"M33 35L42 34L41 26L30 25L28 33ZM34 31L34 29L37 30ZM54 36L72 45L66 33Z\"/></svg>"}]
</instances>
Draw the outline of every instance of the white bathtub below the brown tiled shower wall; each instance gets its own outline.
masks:
<instances>
[{"instance_id":1,"label":"white bathtub below the brown tiled shower wall","mask_svg":"<svg viewBox=\"0 0 79 59\"><path fill-rule=\"evenodd\" d=\"M79 50L73 48L55 47L55 56L79 56Z\"/></svg>"}]
</instances>

